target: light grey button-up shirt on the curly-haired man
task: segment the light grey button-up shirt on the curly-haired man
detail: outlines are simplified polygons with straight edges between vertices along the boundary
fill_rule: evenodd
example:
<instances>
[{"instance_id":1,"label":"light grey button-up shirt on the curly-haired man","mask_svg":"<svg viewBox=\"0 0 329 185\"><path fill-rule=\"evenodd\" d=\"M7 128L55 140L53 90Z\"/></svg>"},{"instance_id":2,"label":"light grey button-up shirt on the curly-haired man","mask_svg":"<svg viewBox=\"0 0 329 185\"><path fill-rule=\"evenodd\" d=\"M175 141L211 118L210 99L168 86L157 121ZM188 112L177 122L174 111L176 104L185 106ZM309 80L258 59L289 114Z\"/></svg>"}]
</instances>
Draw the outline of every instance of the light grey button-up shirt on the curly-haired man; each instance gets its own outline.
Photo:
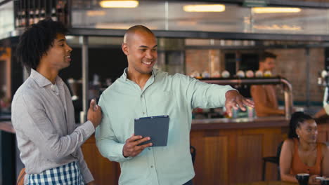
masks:
<instances>
[{"instance_id":1,"label":"light grey button-up shirt on the curly-haired man","mask_svg":"<svg viewBox=\"0 0 329 185\"><path fill-rule=\"evenodd\" d=\"M79 161L84 181L93 180L80 146L95 129L90 121L76 128L74 115L70 91L62 79L58 76L53 85L31 69L14 95L11 118L27 174Z\"/></svg>"}]
</instances>

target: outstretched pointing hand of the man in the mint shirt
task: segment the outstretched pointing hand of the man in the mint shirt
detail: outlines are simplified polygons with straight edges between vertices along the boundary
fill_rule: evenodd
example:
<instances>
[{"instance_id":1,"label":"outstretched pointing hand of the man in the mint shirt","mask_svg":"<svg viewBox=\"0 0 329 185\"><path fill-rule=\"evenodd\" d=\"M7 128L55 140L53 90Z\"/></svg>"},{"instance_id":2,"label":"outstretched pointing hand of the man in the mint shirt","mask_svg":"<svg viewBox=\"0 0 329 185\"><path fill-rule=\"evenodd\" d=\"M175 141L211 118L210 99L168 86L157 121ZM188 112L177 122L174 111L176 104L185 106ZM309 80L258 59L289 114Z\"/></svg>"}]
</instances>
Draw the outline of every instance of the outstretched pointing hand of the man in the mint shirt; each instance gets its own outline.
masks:
<instances>
[{"instance_id":1,"label":"outstretched pointing hand of the man in the mint shirt","mask_svg":"<svg viewBox=\"0 0 329 185\"><path fill-rule=\"evenodd\" d=\"M225 108L229 116L232 116L232 108L236 110L240 108L243 111L245 111L245 106L254 108L254 102L240 95L238 90L228 90L225 97Z\"/></svg>"}]
</instances>

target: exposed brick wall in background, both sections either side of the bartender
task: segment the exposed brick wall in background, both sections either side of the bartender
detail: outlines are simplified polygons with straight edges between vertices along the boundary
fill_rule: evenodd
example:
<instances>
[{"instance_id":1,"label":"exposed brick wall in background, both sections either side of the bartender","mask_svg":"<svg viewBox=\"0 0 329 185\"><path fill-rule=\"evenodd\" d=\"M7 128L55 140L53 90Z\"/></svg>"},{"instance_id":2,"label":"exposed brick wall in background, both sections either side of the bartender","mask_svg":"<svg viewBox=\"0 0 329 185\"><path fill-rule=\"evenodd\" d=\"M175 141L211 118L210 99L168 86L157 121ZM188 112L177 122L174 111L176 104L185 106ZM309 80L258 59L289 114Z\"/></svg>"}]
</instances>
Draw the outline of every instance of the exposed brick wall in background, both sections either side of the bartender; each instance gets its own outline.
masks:
<instances>
[{"instance_id":1,"label":"exposed brick wall in background, both sections either side of the bartender","mask_svg":"<svg viewBox=\"0 0 329 185\"><path fill-rule=\"evenodd\" d=\"M280 74L292 83L293 100L304 102L307 100L307 55L304 48L296 49L271 49L269 52L278 55L276 60L276 69L273 74ZM254 51L250 51L253 52ZM186 50L186 74L191 71L223 71L224 70L224 52L220 50ZM212 64L212 58L215 58L216 65ZM310 82L310 101L322 102L323 88L317 85L318 72L324 69L324 49L311 48L309 50L309 82ZM280 88L278 88L280 89ZM283 100L283 91L278 90L278 99Z\"/></svg>"}]
</instances>

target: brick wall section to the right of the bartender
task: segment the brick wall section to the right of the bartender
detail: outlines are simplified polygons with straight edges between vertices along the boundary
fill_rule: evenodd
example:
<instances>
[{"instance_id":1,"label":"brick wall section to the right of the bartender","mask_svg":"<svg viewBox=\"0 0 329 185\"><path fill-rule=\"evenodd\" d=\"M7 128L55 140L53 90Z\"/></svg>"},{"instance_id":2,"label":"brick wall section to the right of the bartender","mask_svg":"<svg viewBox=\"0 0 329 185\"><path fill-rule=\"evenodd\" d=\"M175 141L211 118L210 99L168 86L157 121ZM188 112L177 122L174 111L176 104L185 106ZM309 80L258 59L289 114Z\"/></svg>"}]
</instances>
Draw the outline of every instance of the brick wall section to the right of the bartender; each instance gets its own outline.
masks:
<instances>
[{"instance_id":1,"label":"brick wall section to the right of the bartender","mask_svg":"<svg viewBox=\"0 0 329 185\"><path fill-rule=\"evenodd\" d=\"M310 101L322 102L323 88L317 85L318 71L324 69L324 49L309 50L309 69L307 69L307 53L303 48L268 50L278 55L275 74L280 74L292 83L294 101L307 100L307 71L309 71ZM283 96L279 96L283 100Z\"/></svg>"}]
</instances>

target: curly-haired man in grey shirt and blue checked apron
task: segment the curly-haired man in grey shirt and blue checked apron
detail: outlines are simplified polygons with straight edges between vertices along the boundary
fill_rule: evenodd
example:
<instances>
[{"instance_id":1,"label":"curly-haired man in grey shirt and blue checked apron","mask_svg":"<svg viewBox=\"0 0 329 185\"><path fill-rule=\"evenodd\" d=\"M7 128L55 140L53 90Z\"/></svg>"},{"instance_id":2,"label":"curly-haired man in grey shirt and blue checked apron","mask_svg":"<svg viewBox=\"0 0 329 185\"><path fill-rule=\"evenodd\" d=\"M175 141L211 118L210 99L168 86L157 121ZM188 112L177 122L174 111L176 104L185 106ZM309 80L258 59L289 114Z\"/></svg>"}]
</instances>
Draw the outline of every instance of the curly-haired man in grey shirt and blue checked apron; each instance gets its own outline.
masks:
<instances>
[{"instance_id":1,"label":"curly-haired man in grey shirt and blue checked apron","mask_svg":"<svg viewBox=\"0 0 329 185\"><path fill-rule=\"evenodd\" d=\"M88 121L77 127L70 92L58 76L71 62L65 33L62 23L41 20L18 43L18 61L30 71L12 104L25 184L95 184L80 146L101 122L101 107L91 101Z\"/></svg>"}]
</instances>

